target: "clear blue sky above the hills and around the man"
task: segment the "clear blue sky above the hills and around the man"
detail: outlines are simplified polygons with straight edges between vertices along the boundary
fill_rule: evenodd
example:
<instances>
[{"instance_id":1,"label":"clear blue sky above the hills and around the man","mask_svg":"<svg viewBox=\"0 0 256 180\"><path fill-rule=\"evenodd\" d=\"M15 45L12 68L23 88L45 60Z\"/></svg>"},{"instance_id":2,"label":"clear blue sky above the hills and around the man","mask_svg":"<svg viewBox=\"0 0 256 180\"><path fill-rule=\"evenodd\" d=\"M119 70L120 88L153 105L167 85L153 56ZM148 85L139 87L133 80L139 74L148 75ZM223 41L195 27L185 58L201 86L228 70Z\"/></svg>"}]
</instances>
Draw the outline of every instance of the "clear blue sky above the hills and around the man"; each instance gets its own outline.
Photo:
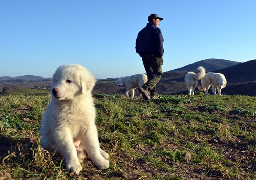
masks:
<instances>
[{"instance_id":1,"label":"clear blue sky above the hills and around the man","mask_svg":"<svg viewBox=\"0 0 256 180\"><path fill-rule=\"evenodd\" d=\"M0 0L0 76L51 77L78 63L96 78L145 73L135 52L147 17L163 17L163 72L208 58L256 59L256 1Z\"/></svg>"}]
</instances>

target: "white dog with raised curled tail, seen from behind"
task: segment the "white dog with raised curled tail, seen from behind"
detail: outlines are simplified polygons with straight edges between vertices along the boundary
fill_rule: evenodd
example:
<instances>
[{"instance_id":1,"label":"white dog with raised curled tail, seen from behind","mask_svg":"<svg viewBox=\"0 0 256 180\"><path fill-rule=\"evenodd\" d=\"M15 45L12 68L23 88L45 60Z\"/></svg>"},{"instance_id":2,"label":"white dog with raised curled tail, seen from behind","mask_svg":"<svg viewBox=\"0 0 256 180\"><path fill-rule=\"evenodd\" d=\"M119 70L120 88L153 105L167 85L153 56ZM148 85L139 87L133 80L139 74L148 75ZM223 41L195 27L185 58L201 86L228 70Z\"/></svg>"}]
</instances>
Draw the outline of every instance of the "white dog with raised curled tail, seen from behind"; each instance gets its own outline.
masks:
<instances>
[{"instance_id":1,"label":"white dog with raised curled tail, seen from behind","mask_svg":"<svg viewBox=\"0 0 256 180\"><path fill-rule=\"evenodd\" d=\"M199 66L197 68L200 72L194 73L194 72L188 72L185 75L185 83L187 85L188 89L188 95L194 95L194 91L197 87L197 80L201 80L205 76L205 68L202 66Z\"/></svg>"}]
</instances>

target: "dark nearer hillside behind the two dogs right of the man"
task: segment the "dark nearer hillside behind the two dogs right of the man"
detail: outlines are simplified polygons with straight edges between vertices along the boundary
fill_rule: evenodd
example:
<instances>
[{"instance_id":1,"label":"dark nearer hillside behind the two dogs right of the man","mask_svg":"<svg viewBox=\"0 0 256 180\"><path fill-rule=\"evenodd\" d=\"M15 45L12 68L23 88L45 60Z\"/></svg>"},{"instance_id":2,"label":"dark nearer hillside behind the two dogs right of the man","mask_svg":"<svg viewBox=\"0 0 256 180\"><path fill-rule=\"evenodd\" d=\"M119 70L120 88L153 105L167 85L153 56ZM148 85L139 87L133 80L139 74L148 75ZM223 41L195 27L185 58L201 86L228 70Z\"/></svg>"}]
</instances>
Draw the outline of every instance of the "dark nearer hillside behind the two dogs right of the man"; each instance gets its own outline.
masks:
<instances>
[{"instance_id":1,"label":"dark nearer hillside behind the two dogs right of the man","mask_svg":"<svg viewBox=\"0 0 256 180\"><path fill-rule=\"evenodd\" d=\"M188 68L190 67L188 66ZM169 71L164 74L157 86L159 93L187 94L188 91L184 83L186 72ZM194 72L197 71L194 70ZM214 72L224 74L227 79L227 86L222 90L223 94L256 96L256 60L239 63L228 68L215 70ZM201 81L199 81L199 84L201 84ZM196 91L199 90L196 89ZM210 92L211 90L209 90Z\"/></svg>"}]
</instances>

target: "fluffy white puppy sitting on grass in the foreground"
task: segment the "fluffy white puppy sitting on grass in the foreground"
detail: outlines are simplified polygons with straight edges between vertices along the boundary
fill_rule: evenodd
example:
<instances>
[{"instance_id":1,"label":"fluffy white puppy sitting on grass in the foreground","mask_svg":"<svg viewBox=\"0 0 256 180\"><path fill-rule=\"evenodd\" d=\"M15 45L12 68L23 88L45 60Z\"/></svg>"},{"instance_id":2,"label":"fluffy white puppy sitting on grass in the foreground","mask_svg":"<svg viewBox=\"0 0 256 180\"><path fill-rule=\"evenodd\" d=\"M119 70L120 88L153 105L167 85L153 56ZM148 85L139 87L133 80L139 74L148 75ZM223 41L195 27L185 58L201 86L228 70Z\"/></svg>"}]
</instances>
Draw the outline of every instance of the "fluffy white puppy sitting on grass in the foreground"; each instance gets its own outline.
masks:
<instances>
[{"instance_id":1,"label":"fluffy white puppy sitting on grass in the foreground","mask_svg":"<svg viewBox=\"0 0 256 180\"><path fill-rule=\"evenodd\" d=\"M92 89L94 76L78 64L60 66L53 74L51 101L41 121L41 145L61 153L66 170L78 174L88 157L100 169L109 155L100 148Z\"/></svg>"}]
</instances>

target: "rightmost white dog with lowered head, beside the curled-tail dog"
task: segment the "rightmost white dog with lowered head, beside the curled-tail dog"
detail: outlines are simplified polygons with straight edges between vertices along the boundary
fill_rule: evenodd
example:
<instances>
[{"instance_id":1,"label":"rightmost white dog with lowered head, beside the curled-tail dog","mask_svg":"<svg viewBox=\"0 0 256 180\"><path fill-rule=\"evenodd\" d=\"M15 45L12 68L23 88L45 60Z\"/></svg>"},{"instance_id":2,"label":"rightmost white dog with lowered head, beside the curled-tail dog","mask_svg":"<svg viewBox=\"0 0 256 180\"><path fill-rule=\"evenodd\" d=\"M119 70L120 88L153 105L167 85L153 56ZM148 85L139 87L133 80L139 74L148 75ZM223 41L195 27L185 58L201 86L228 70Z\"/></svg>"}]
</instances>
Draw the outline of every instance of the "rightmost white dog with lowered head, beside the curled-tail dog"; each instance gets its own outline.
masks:
<instances>
[{"instance_id":1,"label":"rightmost white dog with lowered head, beside the curled-tail dog","mask_svg":"<svg viewBox=\"0 0 256 180\"><path fill-rule=\"evenodd\" d=\"M207 72L201 80L202 87L198 87L200 91L204 91L206 95L209 95L208 89L212 86L212 92L216 94L216 88L218 94L221 95L221 89L226 87L227 80L221 73Z\"/></svg>"}]
</instances>

